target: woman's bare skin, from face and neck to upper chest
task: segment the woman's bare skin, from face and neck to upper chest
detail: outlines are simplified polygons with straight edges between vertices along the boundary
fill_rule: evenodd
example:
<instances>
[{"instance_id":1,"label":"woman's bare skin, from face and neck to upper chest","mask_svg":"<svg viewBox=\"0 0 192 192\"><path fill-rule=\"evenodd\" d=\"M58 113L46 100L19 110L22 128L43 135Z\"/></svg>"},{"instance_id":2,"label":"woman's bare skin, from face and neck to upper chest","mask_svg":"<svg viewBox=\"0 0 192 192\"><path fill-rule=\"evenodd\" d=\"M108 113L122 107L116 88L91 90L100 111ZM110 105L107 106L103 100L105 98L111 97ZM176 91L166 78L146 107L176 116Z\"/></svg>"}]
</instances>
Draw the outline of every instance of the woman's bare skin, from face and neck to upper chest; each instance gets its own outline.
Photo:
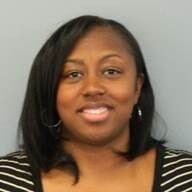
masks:
<instances>
[{"instance_id":1,"label":"woman's bare skin, from face and neck to upper chest","mask_svg":"<svg viewBox=\"0 0 192 192\"><path fill-rule=\"evenodd\" d=\"M56 103L70 138L64 148L75 158L80 180L72 185L70 173L51 170L42 174L45 192L152 190L155 149L131 162L114 153L127 150L143 80L116 31L95 27L78 41L65 63Z\"/></svg>"}]
</instances>

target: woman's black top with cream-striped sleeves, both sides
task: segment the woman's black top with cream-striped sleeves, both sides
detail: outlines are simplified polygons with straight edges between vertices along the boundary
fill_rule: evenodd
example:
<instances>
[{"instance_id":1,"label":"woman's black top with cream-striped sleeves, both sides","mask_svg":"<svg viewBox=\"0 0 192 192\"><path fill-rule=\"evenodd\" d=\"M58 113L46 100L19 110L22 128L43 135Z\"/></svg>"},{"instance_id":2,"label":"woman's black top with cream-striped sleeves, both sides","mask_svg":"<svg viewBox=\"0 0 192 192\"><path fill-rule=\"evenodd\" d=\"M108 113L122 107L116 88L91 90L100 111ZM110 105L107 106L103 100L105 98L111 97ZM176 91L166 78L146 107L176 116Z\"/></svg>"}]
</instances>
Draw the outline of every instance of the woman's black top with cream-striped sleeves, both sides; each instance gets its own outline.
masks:
<instances>
[{"instance_id":1,"label":"woman's black top with cream-striped sleeves, both sides","mask_svg":"<svg viewBox=\"0 0 192 192\"><path fill-rule=\"evenodd\" d=\"M0 158L0 192L43 192L29 162L23 151ZM159 146L152 192L192 192L192 153Z\"/></svg>"}]
</instances>

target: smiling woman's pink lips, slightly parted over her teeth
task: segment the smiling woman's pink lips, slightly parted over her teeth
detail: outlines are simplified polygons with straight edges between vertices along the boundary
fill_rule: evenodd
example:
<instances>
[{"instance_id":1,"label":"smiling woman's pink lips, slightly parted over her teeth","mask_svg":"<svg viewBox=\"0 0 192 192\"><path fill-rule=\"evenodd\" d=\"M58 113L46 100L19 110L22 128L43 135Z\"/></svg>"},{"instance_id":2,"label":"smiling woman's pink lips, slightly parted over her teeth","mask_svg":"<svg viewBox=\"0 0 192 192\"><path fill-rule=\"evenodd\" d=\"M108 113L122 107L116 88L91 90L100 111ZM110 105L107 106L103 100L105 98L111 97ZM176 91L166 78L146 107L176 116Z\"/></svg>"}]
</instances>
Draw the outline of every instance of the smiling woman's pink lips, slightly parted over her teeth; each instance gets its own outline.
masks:
<instances>
[{"instance_id":1,"label":"smiling woman's pink lips, slightly parted over her teeth","mask_svg":"<svg viewBox=\"0 0 192 192\"><path fill-rule=\"evenodd\" d=\"M102 122L109 117L111 109L108 105L90 104L80 110L80 115L87 122Z\"/></svg>"}]
</instances>

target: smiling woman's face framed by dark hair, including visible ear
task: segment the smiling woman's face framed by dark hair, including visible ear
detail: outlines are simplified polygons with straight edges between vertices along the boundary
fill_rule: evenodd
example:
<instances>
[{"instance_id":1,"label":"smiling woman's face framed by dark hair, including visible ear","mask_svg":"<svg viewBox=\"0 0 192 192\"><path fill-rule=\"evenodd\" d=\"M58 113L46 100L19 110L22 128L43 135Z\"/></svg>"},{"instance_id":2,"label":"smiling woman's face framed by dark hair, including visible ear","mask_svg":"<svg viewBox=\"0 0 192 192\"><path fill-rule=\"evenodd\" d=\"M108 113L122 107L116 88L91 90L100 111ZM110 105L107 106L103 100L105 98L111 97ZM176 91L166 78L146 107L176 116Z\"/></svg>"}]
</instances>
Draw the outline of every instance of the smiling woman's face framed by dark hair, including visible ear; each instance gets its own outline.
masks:
<instances>
[{"instance_id":1,"label":"smiling woman's face framed by dark hair, including visible ear","mask_svg":"<svg viewBox=\"0 0 192 192\"><path fill-rule=\"evenodd\" d=\"M117 32L96 27L81 38L64 64L57 92L58 114L71 141L103 145L128 140L142 82Z\"/></svg>"}]
</instances>

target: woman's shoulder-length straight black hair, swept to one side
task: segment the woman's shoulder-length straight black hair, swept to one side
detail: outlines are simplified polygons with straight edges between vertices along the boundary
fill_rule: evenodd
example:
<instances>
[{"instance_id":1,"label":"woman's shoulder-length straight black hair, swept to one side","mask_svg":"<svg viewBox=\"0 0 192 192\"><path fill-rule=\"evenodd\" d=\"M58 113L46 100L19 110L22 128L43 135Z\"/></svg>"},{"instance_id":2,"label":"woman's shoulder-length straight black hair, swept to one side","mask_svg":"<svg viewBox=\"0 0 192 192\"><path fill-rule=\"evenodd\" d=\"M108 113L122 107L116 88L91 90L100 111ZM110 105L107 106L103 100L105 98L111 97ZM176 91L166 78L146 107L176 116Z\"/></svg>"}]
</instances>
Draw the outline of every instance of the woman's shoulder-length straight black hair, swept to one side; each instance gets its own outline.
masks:
<instances>
[{"instance_id":1,"label":"woman's shoulder-length straight black hair, swept to one side","mask_svg":"<svg viewBox=\"0 0 192 192\"><path fill-rule=\"evenodd\" d=\"M132 160L160 143L151 137L154 95L136 39L114 20L89 15L75 18L57 29L37 54L19 121L22 146L33 168L44 172L55 167L70 170L75 182L79 179L79 169L75 159L63 149L64 129L47 125L59 121L56 95L65 59L77 41L97 26L110 27L123 38L135 59L137 73L144 76L141 95L130 120L129 148L127 152L119 154ZM138 116L138 108L142 110L142 118Z\"/></svg>"}]
</instances>

